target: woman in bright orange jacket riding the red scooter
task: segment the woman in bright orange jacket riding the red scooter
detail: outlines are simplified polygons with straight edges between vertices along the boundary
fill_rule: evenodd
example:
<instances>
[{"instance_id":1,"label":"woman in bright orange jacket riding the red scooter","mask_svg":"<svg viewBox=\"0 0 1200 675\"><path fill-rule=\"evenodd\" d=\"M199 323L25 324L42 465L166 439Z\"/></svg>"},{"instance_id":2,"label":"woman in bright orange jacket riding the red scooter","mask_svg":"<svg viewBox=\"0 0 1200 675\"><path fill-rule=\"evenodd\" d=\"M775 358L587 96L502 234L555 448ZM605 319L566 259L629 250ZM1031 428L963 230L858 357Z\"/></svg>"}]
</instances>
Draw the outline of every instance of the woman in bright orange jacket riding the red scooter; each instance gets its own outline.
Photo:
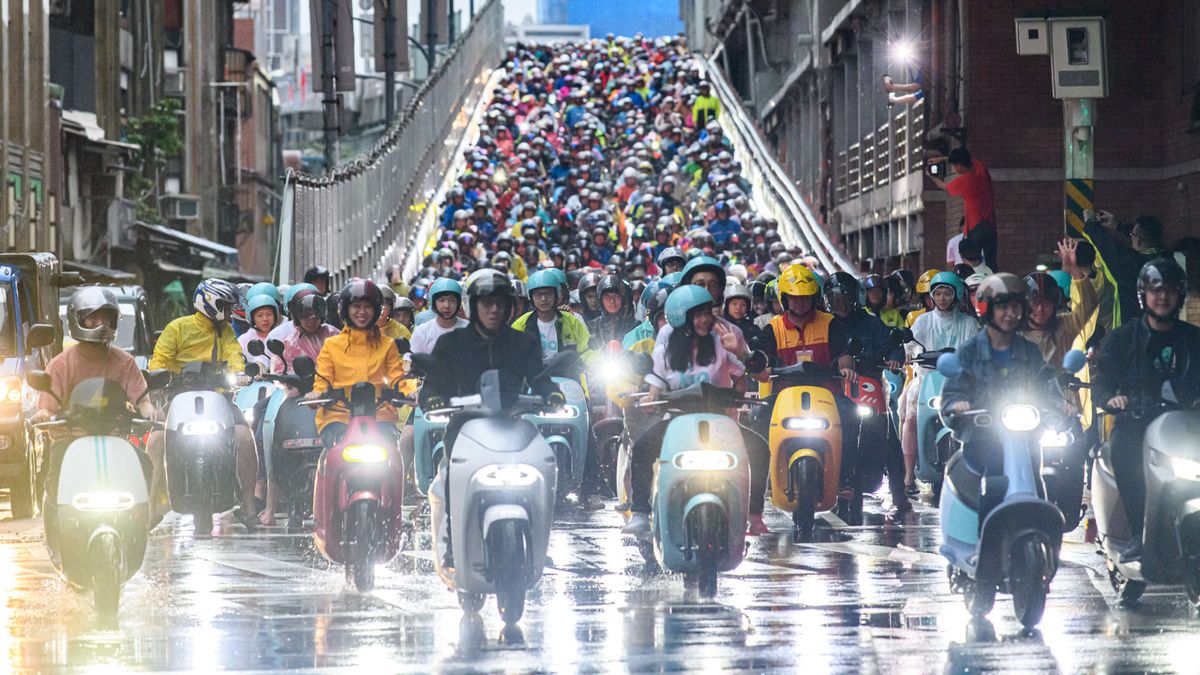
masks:
<instances>
[{"instance_id":1,"label":"woman in bright orange jacket riding the red scooter","mask_svg":"<svg viewBox=\"0 0 1200 675\"><path fill-rule=\"evenodd\" d=\"M320 399L330 389L346 389L370 382L380 389L395 386L404 377L403 362L396 344L379 330L383 312L383 292L374 281L356 279L342 288L338 297L342 331L325 340L317 357L317 378L308 399ZM379 410L380 428L398 438L396 408L388 405ZM349 413L341 407L317 411L317 429L325 448L332 448L346 434Z\"/></svg>"}]
</instances>

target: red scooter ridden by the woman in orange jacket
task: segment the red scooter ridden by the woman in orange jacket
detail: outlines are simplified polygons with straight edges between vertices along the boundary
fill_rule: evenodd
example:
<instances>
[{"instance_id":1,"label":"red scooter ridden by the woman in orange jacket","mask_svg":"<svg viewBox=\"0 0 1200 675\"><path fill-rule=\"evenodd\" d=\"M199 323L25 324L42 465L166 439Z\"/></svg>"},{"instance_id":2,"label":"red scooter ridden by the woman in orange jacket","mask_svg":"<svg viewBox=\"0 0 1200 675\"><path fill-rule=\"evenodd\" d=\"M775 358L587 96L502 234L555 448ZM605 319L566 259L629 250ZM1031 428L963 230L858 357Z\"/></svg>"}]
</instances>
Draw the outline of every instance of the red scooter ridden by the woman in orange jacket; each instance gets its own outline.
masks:
<instances>
[{"instance_id":1,"label":"red scooter ridden by the woman in orange jacket","mask_svg":"<svg viewBox=\"0 0 1200 675\"><path fill-rule=\"evenodd\" d=\"M376 414L404 402L391 389L377 392L360 382L331 389L325 399L305 405L342 406L350 413L346 435L317 464L312 496L312 538L331 562L346 566L347 580L360 591L374 586L376 563L400 552L403 533L404 460L397 440L379 426Z\"/></svg>"}]
</instances>

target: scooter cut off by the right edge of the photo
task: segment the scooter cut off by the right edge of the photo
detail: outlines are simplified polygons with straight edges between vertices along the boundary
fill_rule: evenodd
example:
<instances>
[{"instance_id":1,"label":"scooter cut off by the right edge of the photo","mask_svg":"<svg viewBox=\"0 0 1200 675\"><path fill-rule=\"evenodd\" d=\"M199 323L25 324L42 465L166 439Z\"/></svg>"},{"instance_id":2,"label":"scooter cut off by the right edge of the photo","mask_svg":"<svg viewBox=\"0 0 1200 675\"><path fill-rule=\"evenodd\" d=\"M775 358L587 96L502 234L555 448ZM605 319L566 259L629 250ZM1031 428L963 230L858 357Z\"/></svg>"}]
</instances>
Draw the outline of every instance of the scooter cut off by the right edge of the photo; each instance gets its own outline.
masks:
<instances>
[{"instance_id":1,"label":"scooter cut off by the right edge of the photo","mask_svg":"<svg viewBox=\"0 0 1200 675\"><path fill-rule=\"evenodd\" d=\"M1200 609L1200 411L1181 404L1169 383L1158 401L1133 401L1126 414L1153 418L1146 429L1142 466L1146 474L1146 520L1140 561L1121 562L1132 536L1117 491L1112 450L1096 453L1092 508L1097 539L1109 581L1121 604L1134 605L1150 584L1183 584L1188 601Z\"/></svg>"}]
</instances>

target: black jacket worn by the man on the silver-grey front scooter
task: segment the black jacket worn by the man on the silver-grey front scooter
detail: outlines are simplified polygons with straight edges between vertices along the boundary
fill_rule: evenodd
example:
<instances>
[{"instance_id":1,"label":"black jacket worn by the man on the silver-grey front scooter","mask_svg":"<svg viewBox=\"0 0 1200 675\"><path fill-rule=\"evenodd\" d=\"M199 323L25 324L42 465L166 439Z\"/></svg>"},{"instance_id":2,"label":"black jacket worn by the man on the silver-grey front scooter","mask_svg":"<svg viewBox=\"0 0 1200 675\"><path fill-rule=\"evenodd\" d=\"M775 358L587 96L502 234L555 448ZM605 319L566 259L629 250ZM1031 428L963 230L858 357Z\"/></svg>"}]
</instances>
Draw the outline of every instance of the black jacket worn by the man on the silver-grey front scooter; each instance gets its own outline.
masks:
<instances>
[{"instance_id":1,"label":"black jacket worn by the man on the silver-grey front scooter","mask_svg":"<svg viewBox=\"0 0 1200 675\"><path fill-rule=\"evenodd\" d=\"M538 341L509 327L492 340L485 340L473 325L458 328L439 338L431 356L436 365L420 394L426 410L448 405L451 396L478 394L479 377L488 370L500 371L505 401L515 400L524 386L540 396L558 392L548 377L539 377L542 365Z\"/></svg>"}]
</instances>

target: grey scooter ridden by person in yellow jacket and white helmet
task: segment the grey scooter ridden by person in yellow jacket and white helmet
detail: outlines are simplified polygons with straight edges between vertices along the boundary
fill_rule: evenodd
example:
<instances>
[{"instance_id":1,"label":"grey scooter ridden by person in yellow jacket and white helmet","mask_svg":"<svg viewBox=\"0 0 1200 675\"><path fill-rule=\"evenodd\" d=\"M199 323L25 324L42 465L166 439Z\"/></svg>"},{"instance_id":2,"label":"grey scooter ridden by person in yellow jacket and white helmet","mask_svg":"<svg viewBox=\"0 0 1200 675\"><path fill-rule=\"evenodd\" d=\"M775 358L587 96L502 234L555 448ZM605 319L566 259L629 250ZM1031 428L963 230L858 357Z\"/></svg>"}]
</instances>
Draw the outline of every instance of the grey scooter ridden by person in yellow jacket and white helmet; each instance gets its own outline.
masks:
<instances>
[{"instance_id":1,"label":"grey scooter ridden by person in yellow jacket and white helmet","mask_svg":"<svg viewBox=\"0 0 1200 675\"><path fill-rule=\"evenodd\" d=\"M192 514L196 536L211 533L212 514L240 501L233 404L217 392L228 386L205 362L185 365L172 382L181 393L167 408L167 494L172 510Z\"/></svg>"}]
</instances>

